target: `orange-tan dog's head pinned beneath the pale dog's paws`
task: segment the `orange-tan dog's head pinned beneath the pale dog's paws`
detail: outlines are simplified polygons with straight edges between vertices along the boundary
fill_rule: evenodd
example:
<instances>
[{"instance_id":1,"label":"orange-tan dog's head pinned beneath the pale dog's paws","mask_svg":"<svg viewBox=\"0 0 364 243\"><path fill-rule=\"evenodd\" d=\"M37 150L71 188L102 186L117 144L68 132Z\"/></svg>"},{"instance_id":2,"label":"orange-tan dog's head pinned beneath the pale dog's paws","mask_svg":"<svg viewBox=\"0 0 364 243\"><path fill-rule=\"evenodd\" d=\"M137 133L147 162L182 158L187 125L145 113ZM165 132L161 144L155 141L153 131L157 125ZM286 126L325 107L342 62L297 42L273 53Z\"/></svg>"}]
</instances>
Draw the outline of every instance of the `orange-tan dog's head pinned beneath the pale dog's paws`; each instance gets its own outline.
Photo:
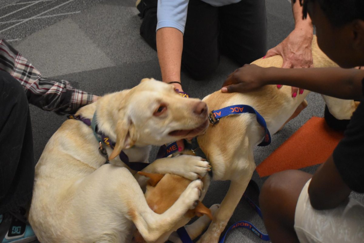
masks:
<instances>
[{"instance_id":1,"label":"orange-tan dog's head pinned beneath the pale dog's paws","mask_svg":"<svg viewBox=\"0 0 364 243\"><path fill-rule=\"evenodd\" d=\"M149 207L158 214L167 211L167 209L169 209L175 201L177 201L182 192L191 183L191 180L173 174L160 175L145 172L138 172L138 174L149 177L145 198ZM205 176L201 180L203 182L203 193L197 206L194 209L188 210L185 215L176 222L171 231L162 235L161 238L163 239L158 239L158 242L165 242L173 231L185 226L194 216L200 217L206 215L212 220L212 213L210 209L201 203L201 200L207 191L207 187L209 186L210 178L209 176ZM145 240L139 232L136 231L133 242L144 243Z\"/></svg>"}]
</instances>

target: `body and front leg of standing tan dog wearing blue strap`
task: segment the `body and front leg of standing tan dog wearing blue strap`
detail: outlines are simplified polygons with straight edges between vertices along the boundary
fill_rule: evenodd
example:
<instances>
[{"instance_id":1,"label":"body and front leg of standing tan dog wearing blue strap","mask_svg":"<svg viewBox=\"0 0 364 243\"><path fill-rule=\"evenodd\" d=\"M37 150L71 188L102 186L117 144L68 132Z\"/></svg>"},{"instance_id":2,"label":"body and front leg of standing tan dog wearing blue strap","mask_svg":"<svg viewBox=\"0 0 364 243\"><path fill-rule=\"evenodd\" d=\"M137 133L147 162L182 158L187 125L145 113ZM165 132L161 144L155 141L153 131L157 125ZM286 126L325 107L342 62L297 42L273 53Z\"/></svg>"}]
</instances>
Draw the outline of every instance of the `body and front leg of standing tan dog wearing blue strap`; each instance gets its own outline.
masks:
<instances>
[{"instance_id":1,"label":"body and front leg of standing tan dog wearing blue strap","mask_svg":"<svg viewBox=\"0 0 364 243\"><path fill-rule=\"evenodd\" d=\"M317 46L316 37L312 42L315 67L337 66ZM273 56L253 62L262 67L281 67L282 57ZM304 100L309 91L292 98L291 87L277 89L275 85L264 86L250 93L221 93L216 91L202 101L207 103L209 112L231 105L250 105L264 118L270 134L276 133L292 116L297 107L304 109ZM324 96L330 112L338 119L350 119L356 108L352 100L341 100ZM298 113L299 113L298 111ZM297 115L297 114L296 114ZM204 134L197 137L199 148L206 154L213 169L213 180L230 180L229 190L223 199L212 223L199 242L217 243L221 232L232 216L256 168L254 148L264 140L265 132L258 124L255 114L239 114L224 117L217 125L210 125ZM191 151L184 151L191 154Z\"/></svg>"}]
</instances>

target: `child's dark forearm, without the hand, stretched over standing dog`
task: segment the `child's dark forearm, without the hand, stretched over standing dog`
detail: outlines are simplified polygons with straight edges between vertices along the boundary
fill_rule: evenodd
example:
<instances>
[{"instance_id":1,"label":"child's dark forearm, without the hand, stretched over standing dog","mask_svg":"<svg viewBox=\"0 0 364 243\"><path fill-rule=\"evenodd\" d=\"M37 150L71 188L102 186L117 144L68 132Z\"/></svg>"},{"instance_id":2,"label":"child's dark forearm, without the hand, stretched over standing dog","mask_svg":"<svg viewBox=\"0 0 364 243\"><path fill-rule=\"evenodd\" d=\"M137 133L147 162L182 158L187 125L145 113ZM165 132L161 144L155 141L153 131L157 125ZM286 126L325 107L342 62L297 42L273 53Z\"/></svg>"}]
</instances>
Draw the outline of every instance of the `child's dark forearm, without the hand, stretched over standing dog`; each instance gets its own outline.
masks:
<instances>
[{"instance_id":1,"label":"child's dark forearm, without the hand, stretched over standing dog","mask_svg":"<svg viewBox=\"0 0 364 243\"><path fill-rule=\"evenodd\" d=\"M266 68L265 84L300 87L341 99L360 99L364 71L344 68Z\"/></svg>"}]
</instances>

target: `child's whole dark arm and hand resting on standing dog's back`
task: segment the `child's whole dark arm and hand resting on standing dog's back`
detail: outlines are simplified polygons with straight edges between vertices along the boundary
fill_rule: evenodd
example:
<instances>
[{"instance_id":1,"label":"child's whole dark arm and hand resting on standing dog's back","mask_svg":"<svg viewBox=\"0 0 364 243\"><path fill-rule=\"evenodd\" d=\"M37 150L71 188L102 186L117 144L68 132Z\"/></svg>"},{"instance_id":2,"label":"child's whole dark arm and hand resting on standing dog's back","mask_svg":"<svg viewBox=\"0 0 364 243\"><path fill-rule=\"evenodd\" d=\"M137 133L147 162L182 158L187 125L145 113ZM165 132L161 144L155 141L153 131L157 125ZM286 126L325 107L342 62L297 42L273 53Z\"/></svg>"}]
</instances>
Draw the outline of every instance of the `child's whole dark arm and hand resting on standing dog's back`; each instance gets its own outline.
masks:
<instances>
[{"instance_id":1,"label":"child's whole dark arm and hand resting on standing dog's back","mask_svg":"<svg viewBox=\"0 0 364 243\"><path fill-rule=\"evenodd\" d=\"M341 99L360 99L364 71L344 68L263 68L246 64L223 83L222 92L249 92L264 85L289 85ZM226 87L225 87L226 86Z\"/></svg>"}]
</instances>

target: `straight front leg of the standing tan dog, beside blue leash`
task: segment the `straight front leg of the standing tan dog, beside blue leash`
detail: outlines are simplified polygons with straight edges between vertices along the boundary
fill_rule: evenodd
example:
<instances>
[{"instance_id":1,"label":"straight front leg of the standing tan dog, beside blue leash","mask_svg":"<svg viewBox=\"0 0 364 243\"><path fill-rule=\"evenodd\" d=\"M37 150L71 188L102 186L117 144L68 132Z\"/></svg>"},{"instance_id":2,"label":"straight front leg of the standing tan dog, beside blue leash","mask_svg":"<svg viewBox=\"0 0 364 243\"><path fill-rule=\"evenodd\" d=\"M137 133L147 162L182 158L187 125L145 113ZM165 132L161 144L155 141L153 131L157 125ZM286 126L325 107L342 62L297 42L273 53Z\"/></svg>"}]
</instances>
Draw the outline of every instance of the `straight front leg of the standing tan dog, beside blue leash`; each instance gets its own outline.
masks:
<instances>
[{"instance_id":1,"label":"straight front leg of the standing tan dog, beside blue leash","mask_svg":"<svg viewBox=\"0 0 364 243\"><path fill-rule=\"evenodd\" d=\"M213 220L207 231L198 240L199 243L217 243L222 231L225 229L227 222L243 196L246 187L252 178L255 169L255 164L250 163L249 168L241 172L239 179L232 180L229 190L225 198L213 217Z\"/></svg>"}]
</instances>

